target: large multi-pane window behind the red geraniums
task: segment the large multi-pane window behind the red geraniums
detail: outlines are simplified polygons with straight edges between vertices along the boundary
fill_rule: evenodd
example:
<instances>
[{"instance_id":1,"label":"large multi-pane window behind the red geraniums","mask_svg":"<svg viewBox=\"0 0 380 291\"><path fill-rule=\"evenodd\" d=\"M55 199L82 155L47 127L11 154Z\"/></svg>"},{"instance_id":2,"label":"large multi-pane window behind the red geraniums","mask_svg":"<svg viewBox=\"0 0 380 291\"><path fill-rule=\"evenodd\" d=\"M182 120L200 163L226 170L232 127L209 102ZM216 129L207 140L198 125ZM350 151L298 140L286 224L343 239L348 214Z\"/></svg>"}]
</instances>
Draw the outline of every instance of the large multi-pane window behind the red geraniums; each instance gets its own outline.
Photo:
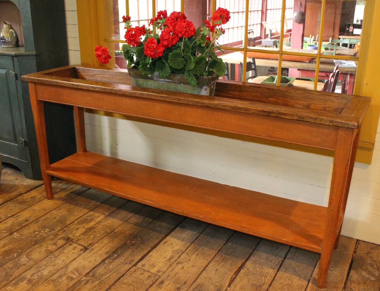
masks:
<instances>
[{"instance_id":1,"label":"large multi-pane window behind the red geraniums","mask_svg":"<svg viewBox=\"0 0 380 291\"><path fill-rule=\"evenodd\" d=\"M130 15L133 25L147 25L159 10L187 12L184 0L103 3L105 44L114 49L115 65L120 68L125 67L120 54L125 31L122 15ZM204 3L207 5L190 9L193 17L205 18L218 7L231 13L230 22L224 26L226 33L219 39L223 51L217 52L229 69L225 79L261 83L277 76L280 85L281 77L295 78L293 86L322 90L337 64L340 76L333 91L353 93L364 0L205 0ZM194 9L199 11L194 13ZM299 9L305 18L296 22L293 14Z\"/></svg>"}]
</instances>

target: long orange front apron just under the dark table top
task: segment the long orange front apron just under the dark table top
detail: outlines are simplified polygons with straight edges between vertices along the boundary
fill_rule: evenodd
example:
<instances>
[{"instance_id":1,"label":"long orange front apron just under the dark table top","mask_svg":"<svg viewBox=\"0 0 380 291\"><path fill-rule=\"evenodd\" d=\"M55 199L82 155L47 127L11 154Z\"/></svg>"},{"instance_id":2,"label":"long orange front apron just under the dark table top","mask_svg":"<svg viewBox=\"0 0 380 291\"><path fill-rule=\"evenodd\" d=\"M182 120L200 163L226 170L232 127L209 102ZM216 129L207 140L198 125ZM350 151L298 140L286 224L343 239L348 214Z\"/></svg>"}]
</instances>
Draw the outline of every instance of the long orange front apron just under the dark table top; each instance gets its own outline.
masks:
<instances>
[{"instance_id":1,"label":"long orange front apron just under the dark table top","mask_svg":"<svg viewBox=\"0 0 380 291\"><path fill-rule=\"evenodd\" d=\"M334 150L338 127L229 111L172 101L132 97L36 83L40 101L69 104L169 123Z\"/></svg>"}]
</instances>

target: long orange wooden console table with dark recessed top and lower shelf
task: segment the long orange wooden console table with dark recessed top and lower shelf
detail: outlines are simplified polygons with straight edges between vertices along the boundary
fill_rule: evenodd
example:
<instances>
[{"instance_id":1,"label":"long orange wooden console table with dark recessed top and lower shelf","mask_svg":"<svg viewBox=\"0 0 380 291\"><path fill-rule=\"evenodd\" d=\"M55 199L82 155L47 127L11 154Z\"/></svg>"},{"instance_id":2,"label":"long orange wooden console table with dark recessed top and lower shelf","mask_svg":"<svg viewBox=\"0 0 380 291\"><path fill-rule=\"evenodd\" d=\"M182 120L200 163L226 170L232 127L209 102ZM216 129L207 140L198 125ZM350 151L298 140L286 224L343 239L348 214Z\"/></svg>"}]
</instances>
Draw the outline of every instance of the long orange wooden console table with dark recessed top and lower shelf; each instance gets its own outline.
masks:
<instances>
[{"instance_id":1,"label":"long orange wooden console table with dark recessed top and lower shelf","mask_svg":"<svg viewBox=\"0 0 380 291\"><path fill-rule=\"evenodd\" d=\"M46 196L51 176L321 254L325 286L370 98L218 81L215 97L131 86L125 70L67 66L28 74ZM44 101L74 106L78 152L50 164ZM87 152L84 108L334 150L328 207ZM59 134L59 133L57 133Z\"/></svg>"}]
</instances>

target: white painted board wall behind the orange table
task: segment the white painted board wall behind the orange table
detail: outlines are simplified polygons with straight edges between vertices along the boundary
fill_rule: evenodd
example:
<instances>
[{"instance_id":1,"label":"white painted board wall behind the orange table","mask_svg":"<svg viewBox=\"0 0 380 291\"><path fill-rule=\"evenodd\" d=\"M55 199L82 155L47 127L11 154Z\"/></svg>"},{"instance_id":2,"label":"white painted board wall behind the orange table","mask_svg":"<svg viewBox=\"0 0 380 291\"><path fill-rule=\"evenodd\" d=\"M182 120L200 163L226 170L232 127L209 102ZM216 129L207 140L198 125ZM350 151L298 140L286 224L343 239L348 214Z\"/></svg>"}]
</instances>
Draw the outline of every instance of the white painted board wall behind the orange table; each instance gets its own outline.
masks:
<instances>
[{"instance_id":1,"label":"white painted board wall behind the orange table","mask_svg":"<svg viewBox=\"0 0 380 291\"><path fill-rule=\"evenodd\" d=\"M73 30L75 0L65 2ZM79 46L69 53L79 63ZM96 114L85 122L90 151L327 206L332 158ZM342 234L380 244L380 123L372 164L355 163Z\"/></svg>"}]
</instances>

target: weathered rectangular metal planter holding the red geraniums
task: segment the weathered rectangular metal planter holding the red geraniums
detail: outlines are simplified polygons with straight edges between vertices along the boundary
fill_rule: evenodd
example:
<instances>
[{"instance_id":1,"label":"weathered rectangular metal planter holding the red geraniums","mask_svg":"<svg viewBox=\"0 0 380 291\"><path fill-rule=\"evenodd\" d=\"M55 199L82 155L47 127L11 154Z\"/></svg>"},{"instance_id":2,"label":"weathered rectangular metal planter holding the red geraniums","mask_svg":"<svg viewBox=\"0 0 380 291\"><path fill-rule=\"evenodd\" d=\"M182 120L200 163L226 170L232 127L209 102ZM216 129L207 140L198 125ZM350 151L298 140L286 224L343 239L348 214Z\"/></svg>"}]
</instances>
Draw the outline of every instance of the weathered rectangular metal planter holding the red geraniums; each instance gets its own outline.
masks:
<instances>
[{"instance_id":1,"label":"weathered rectangular metal planter holding the red geraniums","mask_svg":"<svg viewBox=\"0 0 380 291\"><path fill-rule=\"evenodd\" d=\"M214 96L215 84L219 78L216 74L196 77L198 86L195 87L182 74L170 74L167 78L163 78L154 72L151 76L144 76L138 69L128 69L128 74L133 86L209 96Z\"/></svg>"}]
</instances>

